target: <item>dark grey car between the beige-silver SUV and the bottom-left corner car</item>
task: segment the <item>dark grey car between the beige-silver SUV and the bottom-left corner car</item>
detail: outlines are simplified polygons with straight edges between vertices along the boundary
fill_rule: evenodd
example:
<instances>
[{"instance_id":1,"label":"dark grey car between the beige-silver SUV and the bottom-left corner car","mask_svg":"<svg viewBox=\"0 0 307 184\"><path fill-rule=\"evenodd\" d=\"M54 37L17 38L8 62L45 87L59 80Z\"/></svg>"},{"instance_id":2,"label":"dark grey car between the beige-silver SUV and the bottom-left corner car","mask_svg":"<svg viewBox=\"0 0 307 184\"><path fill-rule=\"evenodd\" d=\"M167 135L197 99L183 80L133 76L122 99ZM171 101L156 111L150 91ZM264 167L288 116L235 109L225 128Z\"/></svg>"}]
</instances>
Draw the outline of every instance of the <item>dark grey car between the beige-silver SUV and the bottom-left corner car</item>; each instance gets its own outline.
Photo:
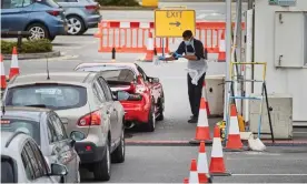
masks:
<instances>
[{"instance_id":1,"label":"dark grey car between the beige-silver SUV and the bottom-left corner car","mask_svg":"<svg viewBox=\"0 0 307 184\"><path fill-rule=\"evenodd\" d=\"M6 106L1 112L1 132L19 131L34 139L48 163L67 166L68 175L59 180L80 183L80 159L75 150L76 140L68 137L58 114L49 109ZM71 136L76 137L76 133Z\"/></svg>"}]
</instances>

